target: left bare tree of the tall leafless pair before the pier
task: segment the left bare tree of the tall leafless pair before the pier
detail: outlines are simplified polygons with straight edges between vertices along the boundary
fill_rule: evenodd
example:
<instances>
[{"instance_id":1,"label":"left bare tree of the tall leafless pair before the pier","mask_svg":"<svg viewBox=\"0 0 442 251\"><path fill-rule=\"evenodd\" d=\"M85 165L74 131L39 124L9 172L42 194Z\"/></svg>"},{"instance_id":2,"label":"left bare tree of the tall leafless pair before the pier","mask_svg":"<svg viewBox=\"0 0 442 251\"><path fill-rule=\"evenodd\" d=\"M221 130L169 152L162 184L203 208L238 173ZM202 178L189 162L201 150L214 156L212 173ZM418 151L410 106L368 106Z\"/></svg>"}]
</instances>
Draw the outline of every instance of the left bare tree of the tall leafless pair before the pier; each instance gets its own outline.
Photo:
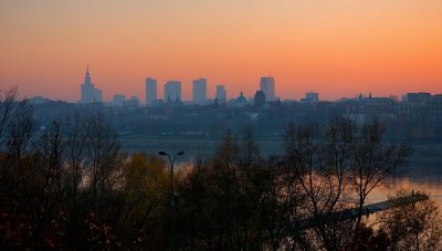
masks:
<instances>
[{"instance_id":1,"label":"left bare tree of the tall leafless pair before the pier","mask_svg":"<svg viewBox=\"0 0 442 251\"><path fill-rule=\"evenodd\" d=\"M348 207L344 198L349 194L352 137L352 124L345 119L335 119L323 129L308 123L286 126L285 156L305 198L299 207L303 217L296 223L313 227L303 231L305 237L298 238L297 245L336 250L348 242L348 223L325 219Z\"/></svg>"}]
</instances>

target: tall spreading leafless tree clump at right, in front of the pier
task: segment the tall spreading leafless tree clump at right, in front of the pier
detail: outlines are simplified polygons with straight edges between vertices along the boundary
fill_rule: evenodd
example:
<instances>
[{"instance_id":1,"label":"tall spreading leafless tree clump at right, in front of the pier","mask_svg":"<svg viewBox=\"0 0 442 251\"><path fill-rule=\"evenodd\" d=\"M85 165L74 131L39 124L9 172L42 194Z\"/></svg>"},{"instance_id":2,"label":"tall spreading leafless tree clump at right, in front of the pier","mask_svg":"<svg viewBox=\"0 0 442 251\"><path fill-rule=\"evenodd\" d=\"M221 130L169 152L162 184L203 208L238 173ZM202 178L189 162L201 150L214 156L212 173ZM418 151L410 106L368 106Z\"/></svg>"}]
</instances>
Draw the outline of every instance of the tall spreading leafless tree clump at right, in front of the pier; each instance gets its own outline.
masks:
<instances>
[{"instance_id":1,"label":"tall spreading leafless tree clump at right, in front of the pier","mask_svg":"<svg viewBox=\"0 0 442 251\"><path fill-rule=\"evenodd\" d=\"M355 242L356 236L349 232L362 228L367 196L392 176L411 153L407 145L386 143L383 132L377 121L358 127L346 118L334 118L322 128L308 123L286 126L286 163L307 199L299 222L307 222L314 230L304 231L306 238L301 243L337 250ZM355 203L356 222L329 220L334 212Z\"/></svg>"}]
</instances>

